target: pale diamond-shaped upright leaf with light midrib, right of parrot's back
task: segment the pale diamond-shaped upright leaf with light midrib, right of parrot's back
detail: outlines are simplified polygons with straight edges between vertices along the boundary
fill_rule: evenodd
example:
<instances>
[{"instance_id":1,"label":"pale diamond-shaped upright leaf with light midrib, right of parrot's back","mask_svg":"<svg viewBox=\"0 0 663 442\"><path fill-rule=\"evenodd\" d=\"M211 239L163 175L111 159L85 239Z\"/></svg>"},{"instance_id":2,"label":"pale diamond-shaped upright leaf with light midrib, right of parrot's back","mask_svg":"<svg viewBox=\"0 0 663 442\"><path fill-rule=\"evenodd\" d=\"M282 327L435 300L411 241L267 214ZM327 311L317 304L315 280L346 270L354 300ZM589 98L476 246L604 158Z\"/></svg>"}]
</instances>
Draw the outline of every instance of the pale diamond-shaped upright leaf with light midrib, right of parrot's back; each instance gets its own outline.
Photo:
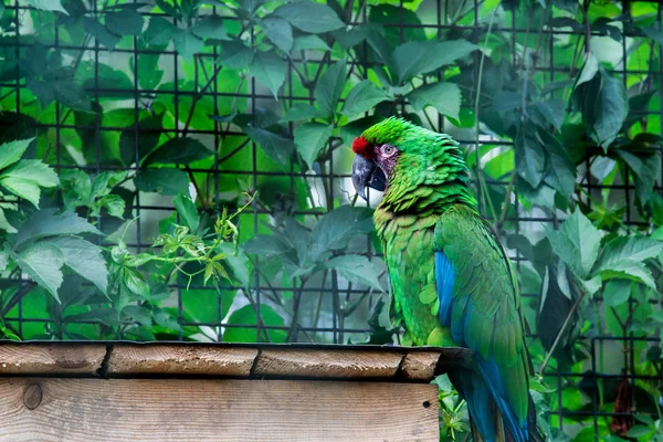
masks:
<instances>
[{"instance_id":1,"label":"pale diamond-shaped upright leaf with light midrib, right of parrot's back","mask_svg":"<svg viewBox=\"0 0 663 442\"><path fill-rule=\"evenodd\" d=\"M552 250L559 259L571 267L580 278L585 278L597 261L601 233L577 209L556 231L546 227Z\"/></svg>"}]
</instances>

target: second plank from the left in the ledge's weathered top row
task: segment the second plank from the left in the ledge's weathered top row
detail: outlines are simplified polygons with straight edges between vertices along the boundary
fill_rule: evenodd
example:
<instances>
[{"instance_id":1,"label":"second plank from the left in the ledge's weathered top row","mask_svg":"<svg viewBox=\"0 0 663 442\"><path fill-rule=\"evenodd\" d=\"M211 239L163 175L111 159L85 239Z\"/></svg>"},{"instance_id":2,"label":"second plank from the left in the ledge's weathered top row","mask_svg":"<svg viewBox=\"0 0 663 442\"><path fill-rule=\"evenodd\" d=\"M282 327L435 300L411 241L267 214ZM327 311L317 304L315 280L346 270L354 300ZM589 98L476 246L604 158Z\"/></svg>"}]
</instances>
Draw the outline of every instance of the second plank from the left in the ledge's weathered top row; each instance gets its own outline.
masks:
<instances>
[{"instance_id":1,"label":"second plank from the left in the ledge's weathered top row","mask_svg":"<svg viewBox=\"0 0 663 442\"><path fill-rule=\"evenodd\" d=\"M106 375L248 377L256 356L256 348L245 347L117 344L110 351Z\"/></svg>"}]
</instances>

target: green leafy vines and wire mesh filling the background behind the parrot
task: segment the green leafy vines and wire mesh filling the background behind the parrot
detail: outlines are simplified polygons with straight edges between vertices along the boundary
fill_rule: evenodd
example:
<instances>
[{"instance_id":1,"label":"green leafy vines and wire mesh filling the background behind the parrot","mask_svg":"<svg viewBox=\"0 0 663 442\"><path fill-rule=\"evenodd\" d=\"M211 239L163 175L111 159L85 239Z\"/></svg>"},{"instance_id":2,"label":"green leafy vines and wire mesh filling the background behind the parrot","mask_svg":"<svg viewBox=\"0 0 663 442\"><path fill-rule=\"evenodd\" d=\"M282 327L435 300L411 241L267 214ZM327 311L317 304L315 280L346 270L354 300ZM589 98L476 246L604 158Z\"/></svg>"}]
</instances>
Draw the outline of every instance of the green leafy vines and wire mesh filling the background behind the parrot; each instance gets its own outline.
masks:
<instances>
[{"instance_id":1,"label":"green leafy vines and wire mesh filling the background behind the parrot","mask_svg":"<svg viewBox=\"0 0 663 442\"><path fill-rule=\"evenodd\" d=\"M466 148L547 435L663 440L662 43L644 1L3 0L0 334L399 343L348 146L400 115Z\"/></svg>"}]
</instances>

